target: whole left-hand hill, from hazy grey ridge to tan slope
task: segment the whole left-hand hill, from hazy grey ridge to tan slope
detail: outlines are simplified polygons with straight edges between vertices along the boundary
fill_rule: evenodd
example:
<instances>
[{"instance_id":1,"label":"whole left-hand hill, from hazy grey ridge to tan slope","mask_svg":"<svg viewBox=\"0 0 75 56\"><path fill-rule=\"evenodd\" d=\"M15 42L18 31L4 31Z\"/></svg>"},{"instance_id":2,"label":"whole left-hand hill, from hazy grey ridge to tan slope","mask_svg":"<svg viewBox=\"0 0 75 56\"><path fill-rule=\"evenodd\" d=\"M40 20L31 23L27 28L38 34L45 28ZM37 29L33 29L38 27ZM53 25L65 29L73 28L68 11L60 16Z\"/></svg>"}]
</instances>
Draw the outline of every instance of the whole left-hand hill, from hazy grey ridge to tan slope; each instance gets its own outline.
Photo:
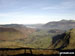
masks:
<instances>
[{"instance_id":1,"label":"whole left-hand hill, from hazy grey ridge to tan slope","mask_svg":"<svg viewBox=\"0 0 75 56\"><path fill-rule=\"evenodd\" d=\"M24 39L34 31L19 24L0 25L0 40Z\"/></svg>"}]
</instances>

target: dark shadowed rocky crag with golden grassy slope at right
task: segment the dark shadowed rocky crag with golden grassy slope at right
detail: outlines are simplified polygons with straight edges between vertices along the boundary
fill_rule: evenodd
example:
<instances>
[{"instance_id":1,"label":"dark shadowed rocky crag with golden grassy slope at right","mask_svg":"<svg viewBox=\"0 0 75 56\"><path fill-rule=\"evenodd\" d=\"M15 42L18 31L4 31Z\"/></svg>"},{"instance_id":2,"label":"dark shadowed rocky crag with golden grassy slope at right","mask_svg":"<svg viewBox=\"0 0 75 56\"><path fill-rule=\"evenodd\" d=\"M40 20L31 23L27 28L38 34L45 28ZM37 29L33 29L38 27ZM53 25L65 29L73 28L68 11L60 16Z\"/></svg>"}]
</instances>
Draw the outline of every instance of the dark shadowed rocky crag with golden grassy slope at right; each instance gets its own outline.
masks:
<instances>
[{"instance_id":1,"label":"dark shadowed rocky crag with golden grassy slope at right","mask_svg":"<svg viewBox=\"0 0 75 56\"><path fill-rule=\"evenodd\" d=\"M53 49L75 49L75 29L54 36L51 46Z\"/></svg>"}]
</instances>

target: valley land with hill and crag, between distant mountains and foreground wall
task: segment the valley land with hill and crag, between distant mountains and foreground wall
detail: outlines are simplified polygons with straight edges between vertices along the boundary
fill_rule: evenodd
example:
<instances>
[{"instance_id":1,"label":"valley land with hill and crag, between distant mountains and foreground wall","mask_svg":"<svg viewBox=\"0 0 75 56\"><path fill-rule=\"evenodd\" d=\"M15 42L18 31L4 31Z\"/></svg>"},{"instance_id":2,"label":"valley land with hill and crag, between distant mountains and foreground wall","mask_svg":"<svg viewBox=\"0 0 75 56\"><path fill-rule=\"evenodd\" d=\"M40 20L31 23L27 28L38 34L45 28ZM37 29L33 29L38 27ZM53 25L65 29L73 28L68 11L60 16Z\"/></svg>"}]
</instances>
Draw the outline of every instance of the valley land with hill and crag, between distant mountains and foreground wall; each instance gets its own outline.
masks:
<instances>
[{"instance_id":1,"label":"valley land with hill and crag, between distant mountains and foreground wall","mask_svg":"<svg viewBox=\"0 0 75 56\"><path fill-rule=\"evenodd\" d=\"M71 46L74 45L75 29L71 29L63 33L64 31L58 29L30 31L26 30L26 28L25 29L23 28L24 31L27 33L25 34L23 29L21 29L22 30L21 31L20 28L0 27L0 47L19 48L27 46L31 48L49 48L49 49L75 48L75 46L71 48ZM27 37L25 35L27 35ZM6 44L4 45L4 43Z\"/></svg>"}]
</instances>

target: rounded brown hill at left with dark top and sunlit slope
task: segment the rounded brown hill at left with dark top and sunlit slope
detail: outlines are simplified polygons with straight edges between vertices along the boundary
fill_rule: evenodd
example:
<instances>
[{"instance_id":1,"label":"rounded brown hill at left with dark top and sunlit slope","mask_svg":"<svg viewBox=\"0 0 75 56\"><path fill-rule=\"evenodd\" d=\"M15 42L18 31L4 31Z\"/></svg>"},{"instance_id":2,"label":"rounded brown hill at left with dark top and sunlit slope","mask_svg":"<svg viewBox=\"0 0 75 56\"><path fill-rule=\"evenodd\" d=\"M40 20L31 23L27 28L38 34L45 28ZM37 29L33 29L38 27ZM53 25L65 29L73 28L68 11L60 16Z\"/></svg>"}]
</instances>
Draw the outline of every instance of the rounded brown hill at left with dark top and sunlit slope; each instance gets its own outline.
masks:
<instances>
[{"instance_id":1,"label":"rounded brown hill at left with dark top and sunlit slope","mask_svg":"<svg viewBox=\"0 0 75 56\"><path fill-rule=\"evenodd\" d=\"M0 27L0 40L16 40L24 37L24 34L16 29Z\"/></svg>"}]
</instances>

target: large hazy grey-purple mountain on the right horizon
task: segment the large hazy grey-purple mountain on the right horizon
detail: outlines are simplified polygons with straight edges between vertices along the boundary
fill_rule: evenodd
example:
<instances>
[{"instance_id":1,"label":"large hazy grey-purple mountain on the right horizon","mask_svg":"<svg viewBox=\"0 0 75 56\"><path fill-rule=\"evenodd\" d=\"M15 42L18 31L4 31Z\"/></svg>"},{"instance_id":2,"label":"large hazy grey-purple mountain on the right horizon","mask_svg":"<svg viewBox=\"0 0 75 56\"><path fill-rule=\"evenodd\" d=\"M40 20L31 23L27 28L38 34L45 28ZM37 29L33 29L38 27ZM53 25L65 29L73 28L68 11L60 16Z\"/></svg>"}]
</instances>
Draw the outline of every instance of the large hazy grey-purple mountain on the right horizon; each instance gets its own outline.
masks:
<instances>
[{"instance_id":1,"label":"large hazy grey-purple mountain on the right horizon","mask_svg":"<svg viewBox=\"0 0 75 56\"><path fill-rule=\"evenodd\" d=\"M48 22L47 24L43 25L42 28L43 29L69 30L71 28L75 28L75 21L74 20L61 20L61 21Z\"/></svg>"}]
</instances>

